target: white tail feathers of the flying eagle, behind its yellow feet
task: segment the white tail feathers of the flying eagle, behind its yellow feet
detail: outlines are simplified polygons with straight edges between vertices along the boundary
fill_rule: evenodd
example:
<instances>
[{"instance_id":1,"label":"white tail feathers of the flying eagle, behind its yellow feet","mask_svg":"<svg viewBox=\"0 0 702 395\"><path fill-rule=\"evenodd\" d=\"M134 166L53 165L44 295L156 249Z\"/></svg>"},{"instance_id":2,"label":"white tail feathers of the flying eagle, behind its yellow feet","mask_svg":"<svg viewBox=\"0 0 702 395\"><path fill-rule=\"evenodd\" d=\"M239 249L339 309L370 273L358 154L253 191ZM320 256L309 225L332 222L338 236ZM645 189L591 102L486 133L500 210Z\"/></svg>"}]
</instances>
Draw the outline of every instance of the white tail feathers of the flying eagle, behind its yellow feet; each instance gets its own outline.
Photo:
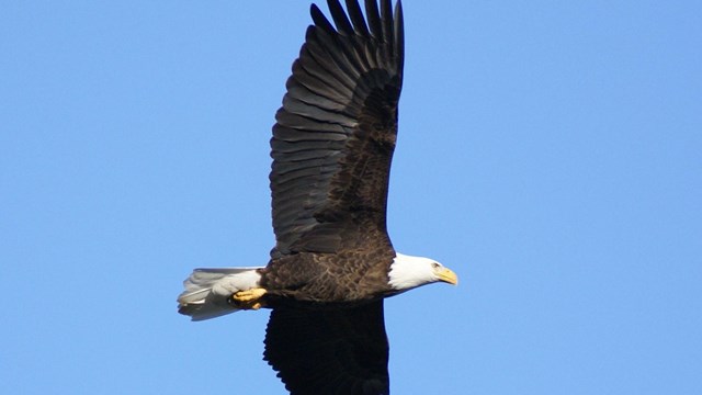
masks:
<instances>
[{"instance_id":1,"label":"white tail feathers of the flying eagle, behind its yellow feet","mask_svg":"<svg viewBox=\"0 0 702 395\"><path fill-rule=\"evenodd\" d=\"M261 268L195 269L183 282L178 296L178 312L203 320L238 311L228 298L237 291L259 286Z\"/></svg>"}]
</instances>

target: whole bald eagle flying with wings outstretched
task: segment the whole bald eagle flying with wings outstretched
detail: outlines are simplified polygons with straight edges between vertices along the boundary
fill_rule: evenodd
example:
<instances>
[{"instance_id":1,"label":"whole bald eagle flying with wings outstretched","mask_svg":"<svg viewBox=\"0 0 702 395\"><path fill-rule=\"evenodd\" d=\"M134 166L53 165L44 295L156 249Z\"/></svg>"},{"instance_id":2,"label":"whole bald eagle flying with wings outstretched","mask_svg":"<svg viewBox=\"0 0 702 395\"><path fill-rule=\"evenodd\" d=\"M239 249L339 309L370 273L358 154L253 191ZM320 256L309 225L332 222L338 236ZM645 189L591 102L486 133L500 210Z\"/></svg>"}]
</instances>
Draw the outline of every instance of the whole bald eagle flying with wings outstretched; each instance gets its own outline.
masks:
<instances>
[{"instance_id":1,"label":"whole bald eagle flying with wings outstretched","mask_svg":"<svg viewBox=\"0 0 702 395\"><path fill-rule=\"evenodd\" d=\"M178 297L193 320L270 308L263 359L291 394L388 394L383 300L446 282L439 262L395 251L387 187L403 84L397 1L312 5L283 106L270 183L275 246L265 267L196 269Z\"/></svg>"}]
</instances>

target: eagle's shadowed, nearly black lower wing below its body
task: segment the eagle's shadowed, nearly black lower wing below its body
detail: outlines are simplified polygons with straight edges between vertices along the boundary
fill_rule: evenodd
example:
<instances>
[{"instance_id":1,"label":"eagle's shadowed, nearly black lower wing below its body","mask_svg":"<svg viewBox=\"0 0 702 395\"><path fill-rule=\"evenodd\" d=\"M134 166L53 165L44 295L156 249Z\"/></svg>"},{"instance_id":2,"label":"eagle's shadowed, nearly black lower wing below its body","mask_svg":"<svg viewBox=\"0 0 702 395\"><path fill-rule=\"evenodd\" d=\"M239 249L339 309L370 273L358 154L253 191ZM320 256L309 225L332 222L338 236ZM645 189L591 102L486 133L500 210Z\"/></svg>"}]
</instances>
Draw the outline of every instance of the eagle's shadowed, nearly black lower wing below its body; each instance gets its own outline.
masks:
<instances>
[{"instance_id":1,"label":"eagle's shadowed, nearly black lower wing below its body","mask_svg":"<svg viewBox=\"0 0 702 395\"><path fill-rule=\"evenodd\" d=\"M274 308L263 359L292 395L389 394L383 301L341 309Z\"/></svg>"}]
</instances>

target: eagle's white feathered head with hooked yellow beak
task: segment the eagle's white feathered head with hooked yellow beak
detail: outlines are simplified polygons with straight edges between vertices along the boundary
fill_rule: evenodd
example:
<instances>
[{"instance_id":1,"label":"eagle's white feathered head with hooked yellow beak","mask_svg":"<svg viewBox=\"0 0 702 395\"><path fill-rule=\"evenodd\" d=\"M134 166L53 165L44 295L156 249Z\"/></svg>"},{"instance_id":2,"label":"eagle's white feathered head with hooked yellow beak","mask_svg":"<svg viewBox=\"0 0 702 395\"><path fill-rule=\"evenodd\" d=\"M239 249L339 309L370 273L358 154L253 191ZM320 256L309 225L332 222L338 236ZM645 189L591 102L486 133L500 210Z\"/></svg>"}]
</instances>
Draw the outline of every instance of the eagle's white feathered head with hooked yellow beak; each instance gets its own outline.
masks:
<instances>
[{"instance_id":1,"label":"eagle's white feathered head with hooked yellow beak","mask_svg":"<svg viewBox=\"0 0 702 395\"><path fill-rule=\"evenodd\" d=\"M407 291L433 282L456 285L458 276L443 264L423 257L406 256L397 252L390 264L389 285L397 291Z\"/></svg>"}]
</instances>

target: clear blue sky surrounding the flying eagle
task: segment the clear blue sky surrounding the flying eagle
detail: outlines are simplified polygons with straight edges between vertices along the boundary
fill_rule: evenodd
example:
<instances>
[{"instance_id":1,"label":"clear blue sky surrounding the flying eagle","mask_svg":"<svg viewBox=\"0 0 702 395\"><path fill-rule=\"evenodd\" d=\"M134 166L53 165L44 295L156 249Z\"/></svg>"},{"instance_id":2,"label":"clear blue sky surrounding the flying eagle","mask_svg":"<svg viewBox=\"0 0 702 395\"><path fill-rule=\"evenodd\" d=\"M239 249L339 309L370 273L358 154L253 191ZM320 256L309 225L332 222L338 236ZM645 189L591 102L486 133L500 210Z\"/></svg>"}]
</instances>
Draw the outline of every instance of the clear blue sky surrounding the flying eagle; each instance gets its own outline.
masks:
<instances>
[{"instance_id":1,"label":"clear blue sky surrounding the flying eagle","mask_svg":"<svg viewBox=\"0 0 702 395\"><path fill-rule=\"evenodd\" d=\"M701 3L404 5L388 226L461 284L387 302L393 393L702 393ZM308 7L2 2L3 393L283 393L176 296L267 262Z\"/></svg>"}]
</instances>

